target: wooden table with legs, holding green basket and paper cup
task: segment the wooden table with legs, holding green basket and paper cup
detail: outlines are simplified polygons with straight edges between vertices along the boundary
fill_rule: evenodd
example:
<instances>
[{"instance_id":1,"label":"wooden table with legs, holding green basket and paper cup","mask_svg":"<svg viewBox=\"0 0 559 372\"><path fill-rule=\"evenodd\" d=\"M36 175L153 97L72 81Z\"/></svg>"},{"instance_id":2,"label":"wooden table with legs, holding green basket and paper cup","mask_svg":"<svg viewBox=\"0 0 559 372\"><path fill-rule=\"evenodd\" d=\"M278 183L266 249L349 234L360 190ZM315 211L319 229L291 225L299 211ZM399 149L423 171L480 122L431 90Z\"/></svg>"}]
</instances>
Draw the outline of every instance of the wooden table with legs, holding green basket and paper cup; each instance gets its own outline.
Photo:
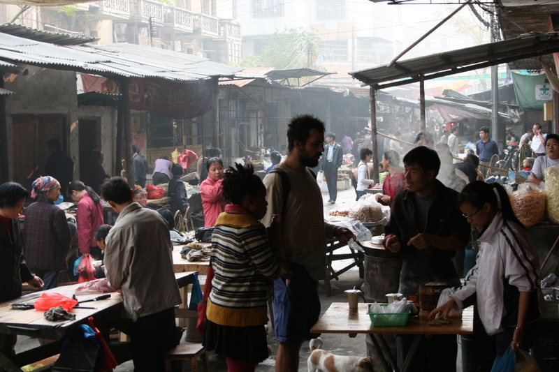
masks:
<instances>
[{"instance_id":1,"label":"wooden table with legs, holding green basket and paper cup","mask_svg":"<svg viewBox=\"0 0 559 372\"><path fill-rule=\"evenodd\" d=\"M395 357L391 355L383 334L413 334L415 335L412 347L409 349L402 372L411 371L410 361L413 359L419 342L426 335L433 334L472 334L474 332L474 310L470 306L463 311L462 318L452 319L450 325L430 326L427 319L428 313L421 311L419 316L409 317L404 327L373 327L367 314L368 304L358 304L357 311L350 311L347 302L334 302L321 316L311 333L336 333L348 334L355 337L357 334L368 334L377 350L384 350L390 355L393 368L389 367L382 352L379 359L386 371L398 371ZM379 342L382 345L379 345Z\"/></svg>"}]
</instances>

